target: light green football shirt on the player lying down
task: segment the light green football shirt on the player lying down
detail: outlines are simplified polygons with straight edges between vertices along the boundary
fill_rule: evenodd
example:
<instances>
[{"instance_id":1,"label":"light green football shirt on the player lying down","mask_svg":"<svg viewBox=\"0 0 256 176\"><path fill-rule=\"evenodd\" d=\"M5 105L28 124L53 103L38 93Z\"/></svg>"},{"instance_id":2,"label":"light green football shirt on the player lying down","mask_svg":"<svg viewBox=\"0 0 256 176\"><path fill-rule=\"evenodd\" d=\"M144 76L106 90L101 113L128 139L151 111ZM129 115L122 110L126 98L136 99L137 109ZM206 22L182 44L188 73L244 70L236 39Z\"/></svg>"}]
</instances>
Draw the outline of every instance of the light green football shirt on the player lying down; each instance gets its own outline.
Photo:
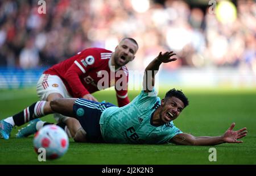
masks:
<instances>
[{"instance_id":1,"label":"light green football shirt on the player lying down","mask_svg":"<svg viewBox=\"0 0 256 176\"><path fill-rule=\"evenodd\" d=\"M107 143L164 144L182 133L172 121L158 127L152 125L152 116L160 106L156 95L155 90L141 91L126 106L106 108L100 118L103 139Z\"/></svg>"}]
</instances>

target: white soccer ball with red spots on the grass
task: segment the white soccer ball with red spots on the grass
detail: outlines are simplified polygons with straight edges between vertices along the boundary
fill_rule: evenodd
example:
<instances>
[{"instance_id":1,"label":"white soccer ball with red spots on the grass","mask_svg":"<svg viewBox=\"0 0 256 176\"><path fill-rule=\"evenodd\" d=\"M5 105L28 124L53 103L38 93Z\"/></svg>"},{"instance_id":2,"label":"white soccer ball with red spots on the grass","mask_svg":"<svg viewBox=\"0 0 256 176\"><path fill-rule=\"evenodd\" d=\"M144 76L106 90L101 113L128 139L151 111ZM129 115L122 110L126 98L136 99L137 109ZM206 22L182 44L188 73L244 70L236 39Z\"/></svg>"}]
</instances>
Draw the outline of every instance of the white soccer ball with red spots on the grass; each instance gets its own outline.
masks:
<instances>
[{"instance_id":1,"label":"white soccer ball with red spots on the grass","mask_svg":"<svg viewBox=\"0 0 256 176\"><path fill-rule=\"evenodd\" d=\"M45 151L47 159L56 159L67 152L69 140L59 126L46 125L35 133L33 144L36 153Z\"/></svg>"}]
</instances>

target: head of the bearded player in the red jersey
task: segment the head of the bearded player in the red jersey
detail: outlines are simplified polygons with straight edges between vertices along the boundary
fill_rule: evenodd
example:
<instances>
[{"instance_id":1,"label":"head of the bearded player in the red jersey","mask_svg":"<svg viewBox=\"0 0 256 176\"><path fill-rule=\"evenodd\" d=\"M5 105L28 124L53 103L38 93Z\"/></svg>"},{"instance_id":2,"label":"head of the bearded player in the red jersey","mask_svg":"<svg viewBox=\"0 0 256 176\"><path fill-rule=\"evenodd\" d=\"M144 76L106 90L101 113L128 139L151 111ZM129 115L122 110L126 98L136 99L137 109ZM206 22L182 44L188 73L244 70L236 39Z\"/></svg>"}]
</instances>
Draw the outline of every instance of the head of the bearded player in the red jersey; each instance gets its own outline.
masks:
<instances>
[{"instance_id":1,"label":"head of the bearded player in the red jersey","mask_svg":"<svg viewBox=\"0 0 256 176\"><path fill-rule=\"evenodd\" d=\"M114 62L115 66L123 66L130 61L133 61L138 47L129 39L122 40L115 48Z\"/></svg>"}]
</instances>

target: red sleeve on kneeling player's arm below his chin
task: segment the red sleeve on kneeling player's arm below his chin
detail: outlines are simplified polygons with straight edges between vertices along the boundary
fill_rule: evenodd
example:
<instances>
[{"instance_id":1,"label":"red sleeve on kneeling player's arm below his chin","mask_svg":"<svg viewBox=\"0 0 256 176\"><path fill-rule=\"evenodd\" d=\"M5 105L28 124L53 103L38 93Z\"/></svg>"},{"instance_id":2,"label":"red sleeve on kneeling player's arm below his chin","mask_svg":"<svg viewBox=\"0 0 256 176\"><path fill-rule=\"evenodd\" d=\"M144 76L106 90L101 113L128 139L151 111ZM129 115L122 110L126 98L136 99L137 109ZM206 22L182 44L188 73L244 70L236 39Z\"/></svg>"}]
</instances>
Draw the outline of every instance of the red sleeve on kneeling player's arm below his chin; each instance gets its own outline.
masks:
<instances>
[{"instance_id":1,"label":"red sleeve on kneeling player's arm below his chin","mask_svg":"<svg viewBox=\"0 0 256 176\"><path fill-rule=\"evenodd\" d=\"M123 70L119 70L115 74L115 91L117 96L118 106L122 107L126 104L130 103L128 98L128 78L129 72L125 68Z\"/></svg>"}]
</instances>

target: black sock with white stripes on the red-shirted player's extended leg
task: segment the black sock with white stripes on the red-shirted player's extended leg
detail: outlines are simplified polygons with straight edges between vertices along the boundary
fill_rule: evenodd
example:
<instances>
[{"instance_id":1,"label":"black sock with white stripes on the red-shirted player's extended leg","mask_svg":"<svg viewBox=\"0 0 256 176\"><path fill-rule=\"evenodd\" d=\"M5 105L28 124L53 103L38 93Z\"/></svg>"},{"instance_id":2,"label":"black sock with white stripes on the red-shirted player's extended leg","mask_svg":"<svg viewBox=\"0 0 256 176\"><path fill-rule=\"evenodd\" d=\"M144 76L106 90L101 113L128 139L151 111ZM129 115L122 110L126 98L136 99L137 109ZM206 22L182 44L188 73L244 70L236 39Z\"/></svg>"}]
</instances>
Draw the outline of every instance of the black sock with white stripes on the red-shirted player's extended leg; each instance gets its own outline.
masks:
<instances>
[{"instance_id":1,"label":"black sock with white stripes on the red-shirted player's extended leg","mask_svg":"<svg viewBox=\"0 0 256 176\"><path fill-rule=\"evenodd\" d=\"M13 116L15 125L20 126L30 120L44 116L44 104L46 104L46 101L38 101L34 104L31 104L31 106L28 106L18 114L15 114Z\"/></svg>"}]
</instances>

